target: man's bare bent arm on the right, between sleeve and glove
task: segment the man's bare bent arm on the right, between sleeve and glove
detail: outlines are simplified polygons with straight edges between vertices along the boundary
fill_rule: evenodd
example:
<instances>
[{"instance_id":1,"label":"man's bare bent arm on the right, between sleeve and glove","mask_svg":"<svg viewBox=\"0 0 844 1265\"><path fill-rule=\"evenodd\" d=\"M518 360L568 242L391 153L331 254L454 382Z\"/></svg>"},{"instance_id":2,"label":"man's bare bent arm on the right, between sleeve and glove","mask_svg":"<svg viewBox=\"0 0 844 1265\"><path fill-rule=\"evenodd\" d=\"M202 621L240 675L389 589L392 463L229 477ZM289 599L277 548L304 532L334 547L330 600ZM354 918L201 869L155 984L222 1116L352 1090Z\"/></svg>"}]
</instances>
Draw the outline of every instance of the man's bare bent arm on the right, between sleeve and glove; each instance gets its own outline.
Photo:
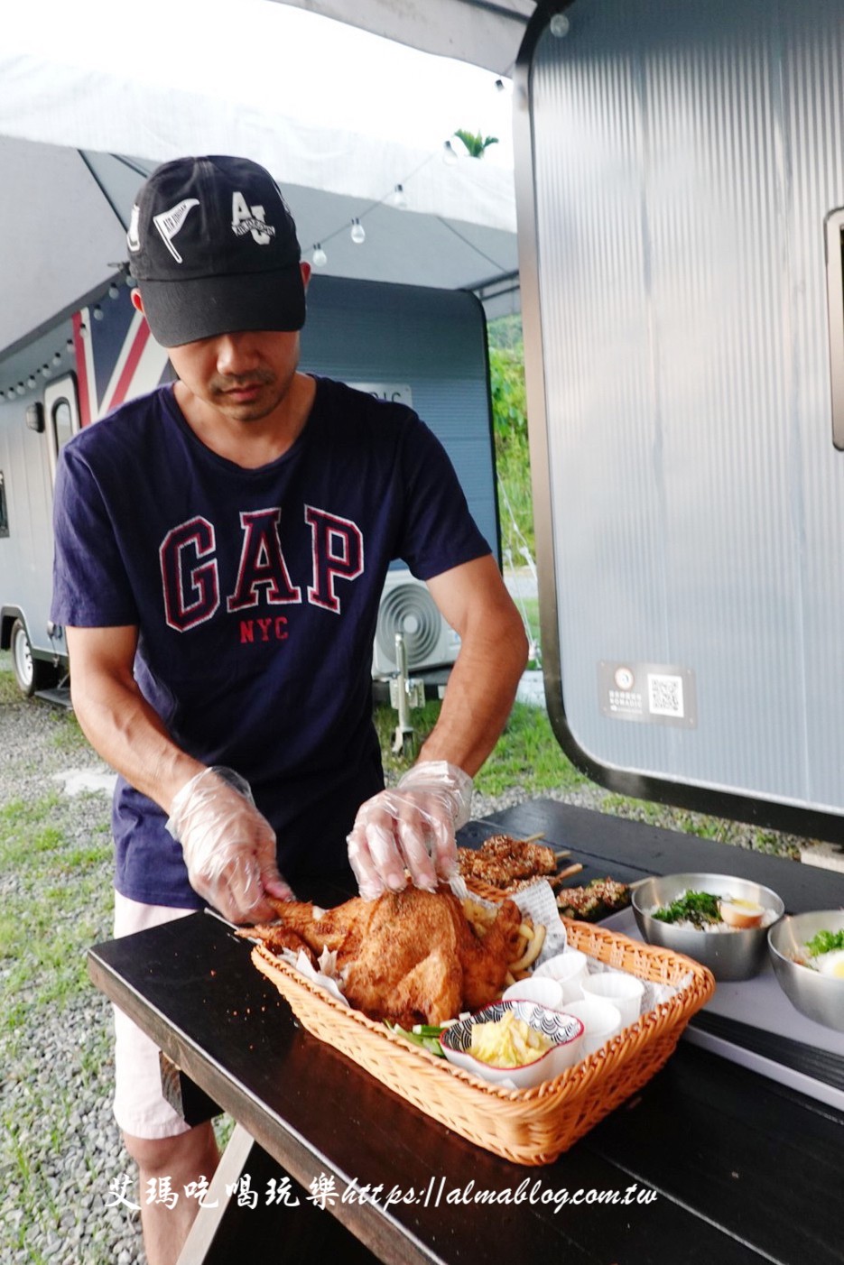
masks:
<instances>
[{"instance_id":1,"label":"man's bare bent arm on the right, between sleeve and glove","mask_svg":"<svg viewBox=\"0 0 844 1265\"><path fill-rule=\"evenodd\" d=\"M510 715L528 639L491 555L435 576L428 588L459 634L461 650L419 760L448 760L473 777Z\"/></svg>"}]
</instances>

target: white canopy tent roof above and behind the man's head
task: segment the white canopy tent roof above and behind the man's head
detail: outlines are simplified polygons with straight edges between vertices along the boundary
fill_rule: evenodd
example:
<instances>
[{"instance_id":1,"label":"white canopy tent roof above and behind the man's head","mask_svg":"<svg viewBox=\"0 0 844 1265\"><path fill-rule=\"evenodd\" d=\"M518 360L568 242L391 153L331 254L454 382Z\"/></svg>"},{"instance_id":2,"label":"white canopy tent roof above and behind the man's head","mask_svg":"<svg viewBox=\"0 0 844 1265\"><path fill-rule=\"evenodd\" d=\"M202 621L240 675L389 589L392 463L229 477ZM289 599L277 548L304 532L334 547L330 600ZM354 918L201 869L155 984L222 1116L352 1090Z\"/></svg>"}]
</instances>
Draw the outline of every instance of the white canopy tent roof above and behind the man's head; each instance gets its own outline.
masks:
<instances>
[{"instance_id":1,"label":"white canopy tent roof above and behind the man's head","mask_svg":"<svg viewBox=\"0 0 844 1265\"><path fill-rule=\"evenodd\" d=\"M511 97L496 71L515 59L533 8L148 0L132 30L115 29L124 10L110 0L30 0L4 15L0 352L114 272L146 171L183 153L264 163L328 273L472 288L504 295L490 311L511 310ZM349 14L357 25L333 20ZM406 47L466 56L472 24L492 70ZM482 158L444 162L457 128L499 139ZM394 205L397 185L406 209Z\"/></svg>"}]
</instances>

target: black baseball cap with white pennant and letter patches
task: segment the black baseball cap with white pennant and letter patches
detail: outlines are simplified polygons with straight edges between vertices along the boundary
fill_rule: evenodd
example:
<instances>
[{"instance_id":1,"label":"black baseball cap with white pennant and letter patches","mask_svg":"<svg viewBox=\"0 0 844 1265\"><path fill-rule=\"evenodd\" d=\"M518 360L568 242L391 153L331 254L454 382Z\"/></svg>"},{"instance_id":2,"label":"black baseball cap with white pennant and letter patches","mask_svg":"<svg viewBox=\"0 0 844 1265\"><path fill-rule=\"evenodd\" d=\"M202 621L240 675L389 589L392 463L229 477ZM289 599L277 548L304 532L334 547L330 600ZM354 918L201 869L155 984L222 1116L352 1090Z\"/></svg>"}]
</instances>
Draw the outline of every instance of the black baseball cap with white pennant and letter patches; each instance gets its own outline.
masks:
<instances>
[{"instance_id":1,"label":"black baseball cap with white pennant and letter patches","mask_svg":"<svg viewBox=\"0 0 844 1265\"><path fill-rule=\"evenodd\" d=\"M162 347L305 324L296 225L270 172L248 158L157 167L138 192L127 240Z\"/></svg>"}]
</instances>

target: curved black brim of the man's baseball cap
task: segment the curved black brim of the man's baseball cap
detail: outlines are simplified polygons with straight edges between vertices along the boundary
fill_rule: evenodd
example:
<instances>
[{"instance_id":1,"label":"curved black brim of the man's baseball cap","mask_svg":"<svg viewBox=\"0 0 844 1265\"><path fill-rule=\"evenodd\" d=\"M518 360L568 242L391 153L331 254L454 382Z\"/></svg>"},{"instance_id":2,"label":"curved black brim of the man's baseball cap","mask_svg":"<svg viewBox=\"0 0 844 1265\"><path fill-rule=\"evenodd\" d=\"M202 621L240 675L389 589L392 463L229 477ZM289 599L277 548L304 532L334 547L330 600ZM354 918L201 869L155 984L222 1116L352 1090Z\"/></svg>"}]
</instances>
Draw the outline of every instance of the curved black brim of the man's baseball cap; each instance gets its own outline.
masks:
<instances>
[{"instance_id":1,"label":"curved black brim of the man's baseball cap","mask_svg":"<svg viewBox=\"0 0 844 1265\"><path fill-rule=\"evenodd\" d=\"M140 281L149 329L162 347L244 330L297 330L305 324L299 263L273 272L186 281Z\"/></svg>"}]
</instances>

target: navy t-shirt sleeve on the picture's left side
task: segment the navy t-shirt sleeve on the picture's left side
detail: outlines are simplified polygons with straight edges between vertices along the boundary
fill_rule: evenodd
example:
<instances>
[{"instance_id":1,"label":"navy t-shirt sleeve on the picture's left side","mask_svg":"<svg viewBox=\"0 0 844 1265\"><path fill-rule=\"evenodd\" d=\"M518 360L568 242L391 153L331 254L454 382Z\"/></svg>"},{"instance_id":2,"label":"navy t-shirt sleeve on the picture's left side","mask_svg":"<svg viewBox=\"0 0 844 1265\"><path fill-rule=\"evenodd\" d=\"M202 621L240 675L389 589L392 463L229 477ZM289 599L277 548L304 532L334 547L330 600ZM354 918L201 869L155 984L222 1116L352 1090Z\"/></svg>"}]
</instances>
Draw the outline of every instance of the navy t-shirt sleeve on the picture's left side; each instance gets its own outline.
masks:
<instances>
[{"instance_id":1,"label":"navy t-shirt sleeve on the picture's left side","mask_svg":"<svg viewBox=\"0 0 844 1265\"><path fill-rule=\"evenodd\" d=\"M108 506L73 444L62 450L56 472L53 539L53 622L71 627L137 625L138 608Z\"/></svg>"}]
</instances>

